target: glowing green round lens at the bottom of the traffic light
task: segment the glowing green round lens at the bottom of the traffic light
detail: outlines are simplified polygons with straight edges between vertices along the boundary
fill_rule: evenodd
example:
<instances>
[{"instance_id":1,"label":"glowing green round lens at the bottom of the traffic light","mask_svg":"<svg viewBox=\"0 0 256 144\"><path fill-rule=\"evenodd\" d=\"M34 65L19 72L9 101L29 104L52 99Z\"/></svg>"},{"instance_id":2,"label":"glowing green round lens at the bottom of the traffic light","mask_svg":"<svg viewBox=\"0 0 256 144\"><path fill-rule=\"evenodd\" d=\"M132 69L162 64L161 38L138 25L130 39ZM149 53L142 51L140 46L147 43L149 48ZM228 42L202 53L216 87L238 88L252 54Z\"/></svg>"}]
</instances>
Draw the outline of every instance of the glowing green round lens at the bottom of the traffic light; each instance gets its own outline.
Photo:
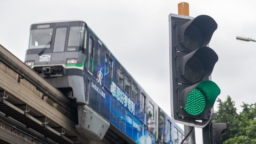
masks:
<instances>
[{"instance_id":1,"label":"glowing green round lens at the bottom of the traffic light","mask_svg":"<svg viewBox=\"0 0 256 144\"><path fill-rule=\"evenodd\" d=\"M206 99L203 92L196 88L188 94L186 108L184 108L188 114L198 116L204 112L205 107Z\"/></svg>"}]
</instances>

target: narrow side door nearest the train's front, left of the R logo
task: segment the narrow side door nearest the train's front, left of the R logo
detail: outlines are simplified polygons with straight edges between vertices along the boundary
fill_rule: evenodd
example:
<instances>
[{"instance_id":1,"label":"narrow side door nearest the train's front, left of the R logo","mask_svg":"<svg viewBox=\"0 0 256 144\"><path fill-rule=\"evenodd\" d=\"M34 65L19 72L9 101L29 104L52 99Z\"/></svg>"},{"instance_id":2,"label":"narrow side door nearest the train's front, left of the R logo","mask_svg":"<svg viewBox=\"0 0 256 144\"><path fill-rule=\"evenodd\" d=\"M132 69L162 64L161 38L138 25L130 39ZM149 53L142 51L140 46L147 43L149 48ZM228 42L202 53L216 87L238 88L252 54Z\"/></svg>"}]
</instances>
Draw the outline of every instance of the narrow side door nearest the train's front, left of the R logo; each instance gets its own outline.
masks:
<instances>
[{"instance_id":1,"label":"narrow side door nearest the train's front, left of the R logo","mask_svg":"<svg viewBox=\"0 0 256 144\"><path fill-rule=\"evenodd\" d=\"M94 38L91 35L89 37L88 59L88 71L92 74L94 61Z\"/></svg>"}]
</instances>

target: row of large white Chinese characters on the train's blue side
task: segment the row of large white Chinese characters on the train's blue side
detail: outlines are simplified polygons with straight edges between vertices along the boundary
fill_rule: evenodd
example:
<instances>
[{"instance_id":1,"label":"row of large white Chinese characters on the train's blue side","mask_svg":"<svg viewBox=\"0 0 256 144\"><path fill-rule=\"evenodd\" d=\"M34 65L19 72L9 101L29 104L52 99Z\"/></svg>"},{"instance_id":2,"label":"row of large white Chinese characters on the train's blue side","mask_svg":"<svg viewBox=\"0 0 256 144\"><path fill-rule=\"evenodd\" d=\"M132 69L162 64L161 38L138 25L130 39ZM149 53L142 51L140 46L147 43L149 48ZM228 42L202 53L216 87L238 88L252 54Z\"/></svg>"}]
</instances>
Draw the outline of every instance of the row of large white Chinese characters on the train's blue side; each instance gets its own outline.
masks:
<instances>
[{"instance_id":1,"label":"row of large white Chinese characters on the train's blue side","mask_svg":"<svg viewBox=\"0 0 256 144\"><path fill-rule=\"evenodd\" d=\"M116 98L118 102L120 102L125 108L135 115L135 104L134 102L128 98L125 92L123 92L114 82L112 83L111 89L113 97Z\"/></svg>"}]
</instances>

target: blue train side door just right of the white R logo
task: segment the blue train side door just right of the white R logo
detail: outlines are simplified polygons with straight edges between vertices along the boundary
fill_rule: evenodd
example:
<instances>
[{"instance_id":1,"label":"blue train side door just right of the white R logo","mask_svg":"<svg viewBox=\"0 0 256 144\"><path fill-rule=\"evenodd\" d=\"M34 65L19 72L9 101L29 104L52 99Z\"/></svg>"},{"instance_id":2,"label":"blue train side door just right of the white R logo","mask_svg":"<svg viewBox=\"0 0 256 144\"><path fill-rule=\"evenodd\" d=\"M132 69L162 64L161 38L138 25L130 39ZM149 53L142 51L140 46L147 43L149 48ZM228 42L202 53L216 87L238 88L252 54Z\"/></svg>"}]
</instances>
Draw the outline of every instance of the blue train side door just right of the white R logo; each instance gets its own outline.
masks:
<instances>
[{"instance_id":1,"label":"blue train side door just right of the white R logo","mask_svg":"<svg viewBox=\"0 0 256 144\"><path fill-rule=\"evenodd\" d=\"M113 80L113 59L108 53L105 55L104 86L110 91Z\"/></svg>"}]
</instances>

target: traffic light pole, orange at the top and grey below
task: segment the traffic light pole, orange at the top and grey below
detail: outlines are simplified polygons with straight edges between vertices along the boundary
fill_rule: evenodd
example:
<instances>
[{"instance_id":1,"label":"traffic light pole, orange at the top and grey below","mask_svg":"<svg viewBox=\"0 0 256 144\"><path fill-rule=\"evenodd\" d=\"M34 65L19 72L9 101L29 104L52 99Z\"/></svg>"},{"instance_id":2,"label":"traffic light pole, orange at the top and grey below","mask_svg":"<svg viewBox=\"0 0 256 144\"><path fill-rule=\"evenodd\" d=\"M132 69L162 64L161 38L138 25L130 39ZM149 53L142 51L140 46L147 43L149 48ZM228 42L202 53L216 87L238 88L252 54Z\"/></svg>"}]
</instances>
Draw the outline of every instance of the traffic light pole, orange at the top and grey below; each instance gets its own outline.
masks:
<instances>
[{"instance_id":1,"label":"traffic light pole, orange at the top and grey below","mask_svg":"<svg viewBox=\"0 0 256 144\"><path fill-rule=\"evenodd\" d=\"M189 16L189 5L188 5L188 3L182 2L182 3L178 4L178 14ZM193 126L184 125L184 134L185 134L185 136L188 135L188 133L190 132L190 130L192 128L193 128ZM192 132L189 134L189 136L185 140L184 144L196 144L195 127L193 128Z\"/></svg>"}]
</instances>

